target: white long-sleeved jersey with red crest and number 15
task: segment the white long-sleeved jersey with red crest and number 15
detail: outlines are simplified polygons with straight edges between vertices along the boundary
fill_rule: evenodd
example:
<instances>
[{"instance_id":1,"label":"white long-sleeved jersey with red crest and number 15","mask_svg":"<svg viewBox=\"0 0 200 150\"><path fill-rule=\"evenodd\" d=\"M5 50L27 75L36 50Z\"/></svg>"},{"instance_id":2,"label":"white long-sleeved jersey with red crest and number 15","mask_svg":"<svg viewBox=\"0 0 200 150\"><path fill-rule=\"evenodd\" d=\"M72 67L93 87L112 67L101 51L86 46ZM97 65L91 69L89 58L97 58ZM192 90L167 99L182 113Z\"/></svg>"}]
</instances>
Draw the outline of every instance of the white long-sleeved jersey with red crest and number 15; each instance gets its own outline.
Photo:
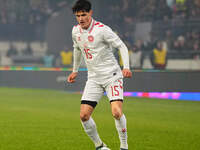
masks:
<instances>
[{"instance_id":1,"label":"white long-sleeved jersey with red crest and number 15","mask_svg":"<svg viewBox=\"0 0 200 150\"><path fill-rule=\"evenodd\" d=\"M112 48L120 50L124 68L129 69L128 50L121 39L106 25L92 19L87 30L80 25L72 30L74 47L73 72L78 72L80 55L83 55L88 79L105 84L116 77L123 77ZM115 78L115 77L114 77Z\"/></svg>"}]
</instances>

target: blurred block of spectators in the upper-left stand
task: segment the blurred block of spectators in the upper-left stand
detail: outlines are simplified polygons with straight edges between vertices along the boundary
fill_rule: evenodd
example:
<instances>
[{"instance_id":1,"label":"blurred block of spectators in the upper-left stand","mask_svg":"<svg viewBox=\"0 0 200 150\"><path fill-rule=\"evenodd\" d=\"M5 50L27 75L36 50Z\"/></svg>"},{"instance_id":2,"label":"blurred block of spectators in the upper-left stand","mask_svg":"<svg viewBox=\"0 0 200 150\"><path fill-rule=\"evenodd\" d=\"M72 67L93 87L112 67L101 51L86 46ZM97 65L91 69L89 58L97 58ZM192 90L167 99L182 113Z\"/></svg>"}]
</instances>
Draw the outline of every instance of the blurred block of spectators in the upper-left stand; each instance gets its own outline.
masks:
<instances>
[{"instance_id":1,"label":"blurred block of spectators in the upper-left stand","mask_svg":"<svg viewBox=\"0 0 200 150\"><path fill-rule=\"evenodd\" d=\"M0 0L0 23L45 23L49 16L69 2L70 0Z\"/></svg>"}]
</instances>

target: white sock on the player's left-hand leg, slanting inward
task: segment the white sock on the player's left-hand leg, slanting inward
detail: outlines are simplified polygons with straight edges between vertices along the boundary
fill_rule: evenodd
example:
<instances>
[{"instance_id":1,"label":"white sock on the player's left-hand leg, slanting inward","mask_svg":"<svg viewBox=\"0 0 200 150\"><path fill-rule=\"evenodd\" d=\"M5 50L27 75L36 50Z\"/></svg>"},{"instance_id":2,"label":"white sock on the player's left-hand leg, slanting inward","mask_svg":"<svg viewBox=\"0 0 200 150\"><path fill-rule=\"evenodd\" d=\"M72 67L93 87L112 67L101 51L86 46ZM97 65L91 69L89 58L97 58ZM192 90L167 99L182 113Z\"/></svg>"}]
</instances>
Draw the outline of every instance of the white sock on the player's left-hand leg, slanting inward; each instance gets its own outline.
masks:
<instances>
[{"instance_id":1,"label":"white sock on the player's left-hand leg, slanting inward","mask_svg":"<svg viewBox=\"0 0 200 150\"><path fill-rule=\"evenodd\" d=\"M94 142L95 147L101 146L102 141L99 137L99 134L97 133L96 124L94 120L92 119L92 117L90 117L88 121L82 122L82 125L87 135Z\"/></svg>"}]
</instances>

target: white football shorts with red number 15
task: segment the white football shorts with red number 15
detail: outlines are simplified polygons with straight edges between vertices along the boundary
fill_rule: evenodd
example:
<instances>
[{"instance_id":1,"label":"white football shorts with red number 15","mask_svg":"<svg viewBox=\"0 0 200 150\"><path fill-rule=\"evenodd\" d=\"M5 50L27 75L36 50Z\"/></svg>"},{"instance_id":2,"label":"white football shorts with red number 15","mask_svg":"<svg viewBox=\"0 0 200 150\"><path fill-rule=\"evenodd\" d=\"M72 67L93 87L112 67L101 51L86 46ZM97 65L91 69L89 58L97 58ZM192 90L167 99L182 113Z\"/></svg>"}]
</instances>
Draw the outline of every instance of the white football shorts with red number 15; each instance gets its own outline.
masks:
<instances>
[{"instance_id":1,"label":"white football shorts with red number 15","mask_svg":"<svg viewBox=\"0 0 200 150\"><path fill-rule=\"evenodd\" d=\"M94 81L88 80L81 100L98 103L104 92L106 92L110 101L123 100L123 80L120 78L107 85L97 84Z\"/></svg>"}]
</instances>

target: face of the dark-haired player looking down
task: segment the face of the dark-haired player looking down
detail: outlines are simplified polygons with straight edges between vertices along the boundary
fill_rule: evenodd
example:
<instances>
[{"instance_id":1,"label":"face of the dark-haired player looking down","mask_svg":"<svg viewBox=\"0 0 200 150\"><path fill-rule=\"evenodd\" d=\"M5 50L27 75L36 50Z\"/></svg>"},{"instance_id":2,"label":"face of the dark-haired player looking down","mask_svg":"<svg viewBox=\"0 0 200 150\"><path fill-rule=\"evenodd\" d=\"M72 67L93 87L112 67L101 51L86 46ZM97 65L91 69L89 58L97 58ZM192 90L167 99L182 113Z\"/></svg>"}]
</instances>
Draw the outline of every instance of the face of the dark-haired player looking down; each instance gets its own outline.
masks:
<instances>
[{"instance_id":1,"label":"face of the dark-haired player looking down","mask_svg":"<svg viewBox=\"0 0 200 150\"><path fill-rule=\"evenodd\" d=\"M88 29L92 21L92 10L89 12L79 11L75 13L76 19L82 29Z\"/></svg>"}]
</instances>

